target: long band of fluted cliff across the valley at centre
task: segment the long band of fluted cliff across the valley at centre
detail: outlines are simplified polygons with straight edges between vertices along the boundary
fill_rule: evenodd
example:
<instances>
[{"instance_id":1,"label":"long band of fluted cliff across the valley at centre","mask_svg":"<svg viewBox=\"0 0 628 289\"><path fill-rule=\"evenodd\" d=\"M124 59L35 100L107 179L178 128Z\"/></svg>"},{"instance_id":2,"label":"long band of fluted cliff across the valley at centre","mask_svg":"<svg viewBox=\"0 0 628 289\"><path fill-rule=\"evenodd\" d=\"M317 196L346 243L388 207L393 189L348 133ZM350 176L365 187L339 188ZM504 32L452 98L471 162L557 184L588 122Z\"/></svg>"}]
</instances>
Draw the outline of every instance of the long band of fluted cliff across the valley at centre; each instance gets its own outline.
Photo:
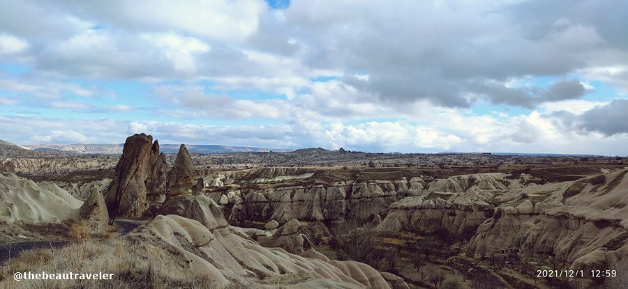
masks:
<instances>
[{"instance_id":1,"label":"long band of fluted cliff across the valley at centre","mask_svg":"<svg viewBox=\"0 0 628 289\"><path fill-rule=\"evenodd\" d=\"M343 218L376 219L386 214L389 205L408 194L419 194L424 181L403 178L394 182L332 182L309 185L211 192L208 195L223 205L229 221L269 221L285 224L301 221L336 221ZM377 217L376 217L377 215ZM236 223L237 224L237 223Z\"/></svg>"}]
</instances>

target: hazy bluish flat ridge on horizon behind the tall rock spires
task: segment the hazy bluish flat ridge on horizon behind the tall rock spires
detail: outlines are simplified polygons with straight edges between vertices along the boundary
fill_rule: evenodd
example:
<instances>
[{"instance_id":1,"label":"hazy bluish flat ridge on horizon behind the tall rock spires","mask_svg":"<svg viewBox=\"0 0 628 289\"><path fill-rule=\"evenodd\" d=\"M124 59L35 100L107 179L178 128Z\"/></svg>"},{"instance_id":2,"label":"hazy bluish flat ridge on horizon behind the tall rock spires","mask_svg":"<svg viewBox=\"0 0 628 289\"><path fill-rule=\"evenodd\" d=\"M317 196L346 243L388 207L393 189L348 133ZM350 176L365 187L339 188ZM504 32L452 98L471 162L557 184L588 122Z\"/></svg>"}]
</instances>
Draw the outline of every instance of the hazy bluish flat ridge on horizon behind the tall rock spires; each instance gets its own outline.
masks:
<instances>
[{"instance_id":1,"label":"hazy bluish flat ridge on horizon behind the tall rock spires","mask_svg":"<svg viewBox=\"0 0 628 289\"><path fill-rule=\"evenodd\" d=\"M14 145L15 146L15 145ZM180 144L160 144L162 153L179 152ZM274 148L257 148L248 146L219 146L219 145L186 145L190 153L265 153L265 152L287 152L290 150ZM113 154L122 153L124 144L73 144L73 145L32 145L26 146L31 150L54 152L54 153L77 153L77 154Z\"/></svg>"}]
</instances>

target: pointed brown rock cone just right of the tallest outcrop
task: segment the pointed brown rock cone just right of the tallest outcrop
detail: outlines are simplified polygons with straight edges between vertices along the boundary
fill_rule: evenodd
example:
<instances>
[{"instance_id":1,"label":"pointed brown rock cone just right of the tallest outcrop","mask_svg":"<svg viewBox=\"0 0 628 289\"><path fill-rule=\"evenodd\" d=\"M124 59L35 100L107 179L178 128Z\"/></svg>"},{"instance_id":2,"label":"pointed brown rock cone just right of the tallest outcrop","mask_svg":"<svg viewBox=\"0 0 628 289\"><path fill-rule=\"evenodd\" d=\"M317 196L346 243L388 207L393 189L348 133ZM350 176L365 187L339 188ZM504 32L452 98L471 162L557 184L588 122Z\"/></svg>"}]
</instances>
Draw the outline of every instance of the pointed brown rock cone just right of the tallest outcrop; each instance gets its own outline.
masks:
<instances>
[{"instance_id":1,"label":"pointed brown rock cone just right of the tallest outcrop","mask_svg":"<svg viewBox=\"0 0 628 289\"><path fill-rule=\"evenodd\" d=\"M188 148L181 144L179 153L174 159L174 166L167 176L168 194L189 194L190 189L195 185L196 175L196 168Z\"/></svg>"}]
</instances>

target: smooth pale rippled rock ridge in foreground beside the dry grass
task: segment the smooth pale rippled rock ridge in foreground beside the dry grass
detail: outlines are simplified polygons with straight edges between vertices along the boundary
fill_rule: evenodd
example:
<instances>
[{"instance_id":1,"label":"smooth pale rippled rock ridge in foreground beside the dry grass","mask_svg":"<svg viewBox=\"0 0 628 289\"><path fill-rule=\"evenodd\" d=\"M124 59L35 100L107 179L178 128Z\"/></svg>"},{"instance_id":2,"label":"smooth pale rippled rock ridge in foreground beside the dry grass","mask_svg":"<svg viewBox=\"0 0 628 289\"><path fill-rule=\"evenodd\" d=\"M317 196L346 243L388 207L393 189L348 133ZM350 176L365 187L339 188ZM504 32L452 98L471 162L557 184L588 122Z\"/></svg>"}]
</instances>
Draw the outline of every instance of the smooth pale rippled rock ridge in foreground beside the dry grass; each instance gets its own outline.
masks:
<instances>
[{"instance_id":1,"label":"smooth pale rippled rock ridge in foreground beside the dry grass","mask_svg":"<svg viewBox=\"0 0 628 289\"><path fill-rule=\"evenodd\" d=\"M209 229L193 219L171 214L158 215L126 238L148 242L153 250L177 251L179 254L168 256L183 258L180 263L189 273L211 280L213 288L230 288L232 283L274 288L261 281L290 274L307 278L284 281L282 288L391 288L380 272L364 263L329 260L313 249L299 256L280 248L264 248L244 231L237 227Z\"/></svg>"}]
</instances>

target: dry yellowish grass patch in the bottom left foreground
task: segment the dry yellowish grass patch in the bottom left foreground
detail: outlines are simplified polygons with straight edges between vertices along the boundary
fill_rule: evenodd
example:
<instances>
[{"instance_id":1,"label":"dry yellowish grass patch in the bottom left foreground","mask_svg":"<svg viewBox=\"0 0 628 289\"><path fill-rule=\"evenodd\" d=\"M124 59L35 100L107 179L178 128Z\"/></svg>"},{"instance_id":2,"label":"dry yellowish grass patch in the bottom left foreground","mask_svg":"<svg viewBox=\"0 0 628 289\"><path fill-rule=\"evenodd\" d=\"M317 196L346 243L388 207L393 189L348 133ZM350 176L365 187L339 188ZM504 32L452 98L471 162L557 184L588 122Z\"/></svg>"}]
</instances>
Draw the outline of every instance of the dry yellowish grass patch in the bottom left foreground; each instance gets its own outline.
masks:
<instances>
[{"instance_id":1,"label":"dry yellowish grass patch in the bottom left foreground","mask_svg":"<svg viewBox=\"0 0 628 289\"><path fill-rule=\"evenodd\" d=\"M80 229L75 232L82 234ZM167 247L166 245L163 245ZM61 249L24 251L0 267L0 288L212 288L163 248L114 239L82 239ZM15 281L15 272L113 273L112 280Z\"/></svg>"}]
</instances>

